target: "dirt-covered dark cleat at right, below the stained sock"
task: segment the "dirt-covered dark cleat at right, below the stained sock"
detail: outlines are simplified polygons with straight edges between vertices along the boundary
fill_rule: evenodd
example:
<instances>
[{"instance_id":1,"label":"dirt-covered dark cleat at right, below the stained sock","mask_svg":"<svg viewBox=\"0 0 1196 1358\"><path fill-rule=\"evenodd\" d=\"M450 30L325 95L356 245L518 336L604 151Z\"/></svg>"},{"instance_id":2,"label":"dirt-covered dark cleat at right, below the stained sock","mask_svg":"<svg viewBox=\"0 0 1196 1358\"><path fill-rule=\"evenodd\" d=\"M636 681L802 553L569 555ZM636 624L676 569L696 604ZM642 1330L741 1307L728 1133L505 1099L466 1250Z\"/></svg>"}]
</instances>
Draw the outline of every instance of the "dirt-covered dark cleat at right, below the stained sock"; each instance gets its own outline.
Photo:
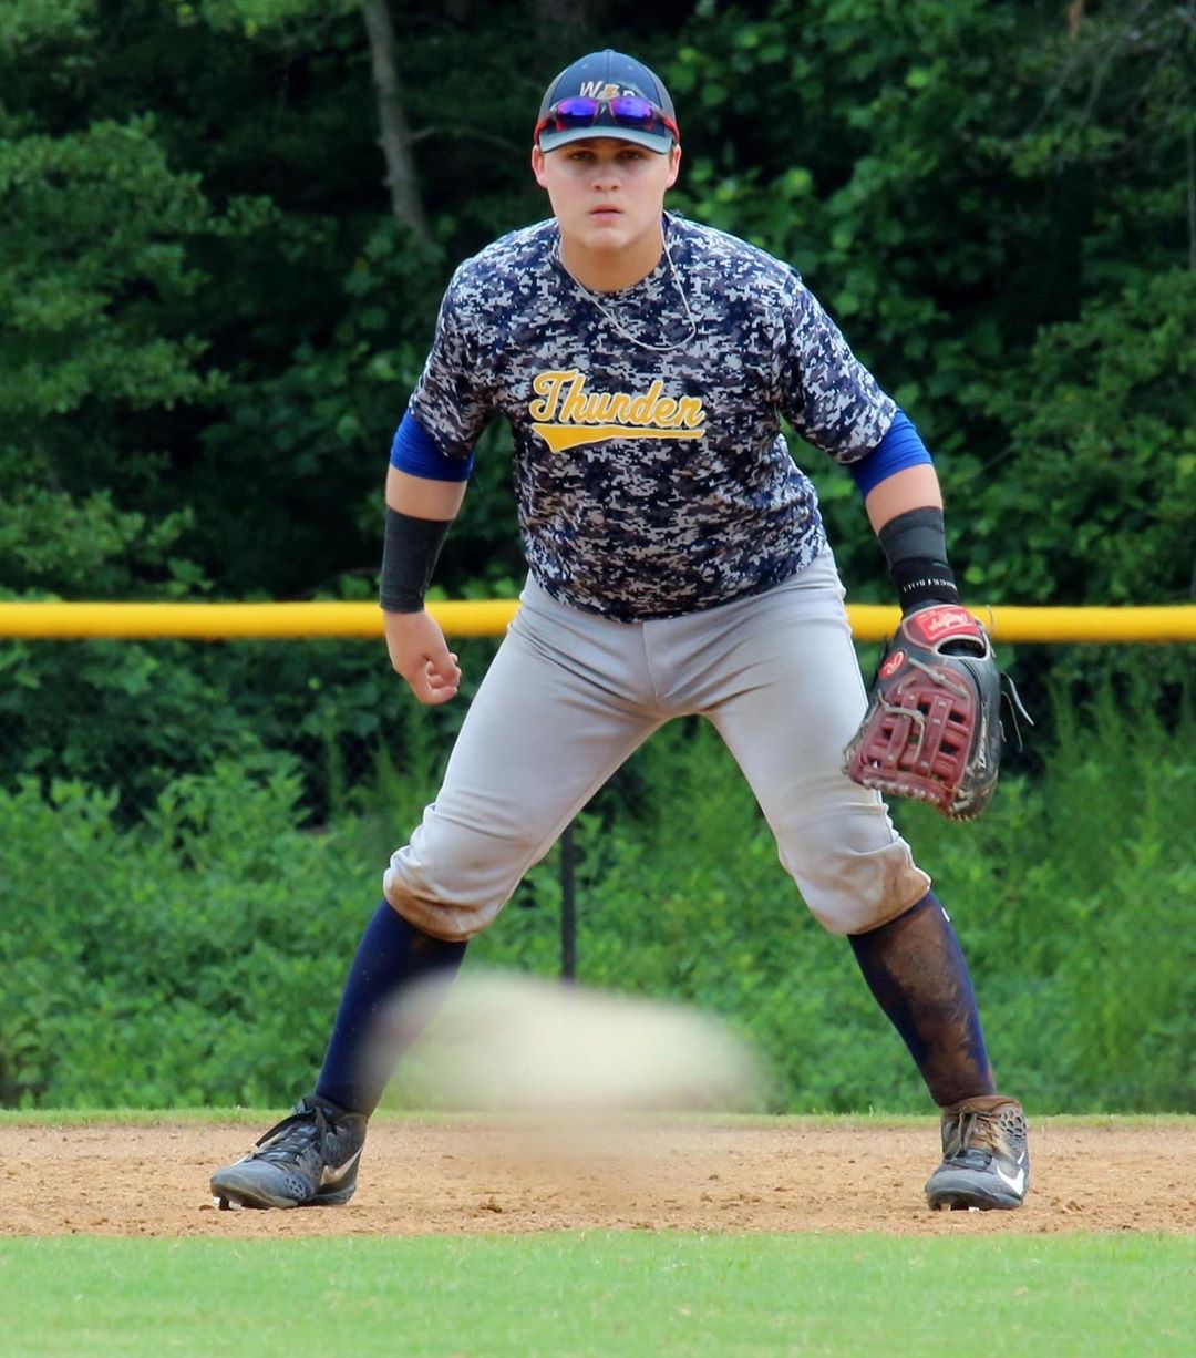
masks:
<instances>
[{"instance_id":1,"label":"dirt-covered dark cleat at right, below the stained sock","mask_svg":"<svg viewBox=\"0 0 1196 1358\"><path fill-rule=\"evenodd\" d=\"M1020 1103L988 1095L942 1109L942 1164L926 1183L931 1207L1021 1207L1029 1187L1030 1152Z\"/></svg>"}]
</instances>

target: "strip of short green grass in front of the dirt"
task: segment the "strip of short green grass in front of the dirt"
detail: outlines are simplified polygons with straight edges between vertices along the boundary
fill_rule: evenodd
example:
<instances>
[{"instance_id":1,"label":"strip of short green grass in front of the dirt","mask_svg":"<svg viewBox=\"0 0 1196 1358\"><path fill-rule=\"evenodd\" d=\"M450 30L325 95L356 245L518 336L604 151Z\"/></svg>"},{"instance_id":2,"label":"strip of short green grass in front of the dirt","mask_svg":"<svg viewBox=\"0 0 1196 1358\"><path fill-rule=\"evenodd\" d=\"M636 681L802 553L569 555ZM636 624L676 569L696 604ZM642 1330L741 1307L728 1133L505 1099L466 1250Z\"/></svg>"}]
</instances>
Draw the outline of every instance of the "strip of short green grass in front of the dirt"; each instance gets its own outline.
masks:
<instances>
[{"instance_id":1,"label":"strip of short green grass in front of the dirt","mask_svg":"<svg viewBox=\"0 0 1196 1358\"><path fill-rule=\"evenodd\" d=\"M0 1353L1191 1354L1196 1240L638 1233L0 1243Z\"/></svg>"}]
</instances>

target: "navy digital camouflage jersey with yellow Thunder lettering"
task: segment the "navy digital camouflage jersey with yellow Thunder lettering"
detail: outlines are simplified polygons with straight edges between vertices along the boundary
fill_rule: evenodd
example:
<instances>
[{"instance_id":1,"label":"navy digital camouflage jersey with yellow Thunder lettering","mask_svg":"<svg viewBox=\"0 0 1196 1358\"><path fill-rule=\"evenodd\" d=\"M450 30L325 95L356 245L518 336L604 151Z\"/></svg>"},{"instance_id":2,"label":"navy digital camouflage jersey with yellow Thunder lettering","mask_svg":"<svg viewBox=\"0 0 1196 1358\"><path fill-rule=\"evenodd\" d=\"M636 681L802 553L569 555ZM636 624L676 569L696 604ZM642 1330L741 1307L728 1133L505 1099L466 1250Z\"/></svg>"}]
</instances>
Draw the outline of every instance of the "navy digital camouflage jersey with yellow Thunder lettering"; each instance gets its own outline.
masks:
<instances>
[{"instance_id":1,"label":"navy digital camouflage jersey with yellow Thunder lettering","mask_svg":"<svg viewBox=\"0 0 1196 1358\"><path fill-rule=\"evenodd\" d=\"M850 463L896 410L793 269L675 213L664 228L668 254L620 292L572 278L555 220L467 259L410 403L448 456L506 417L532 576L620 622L806 566L825 538L782 416Z\"/></svg>"}]
</instances>

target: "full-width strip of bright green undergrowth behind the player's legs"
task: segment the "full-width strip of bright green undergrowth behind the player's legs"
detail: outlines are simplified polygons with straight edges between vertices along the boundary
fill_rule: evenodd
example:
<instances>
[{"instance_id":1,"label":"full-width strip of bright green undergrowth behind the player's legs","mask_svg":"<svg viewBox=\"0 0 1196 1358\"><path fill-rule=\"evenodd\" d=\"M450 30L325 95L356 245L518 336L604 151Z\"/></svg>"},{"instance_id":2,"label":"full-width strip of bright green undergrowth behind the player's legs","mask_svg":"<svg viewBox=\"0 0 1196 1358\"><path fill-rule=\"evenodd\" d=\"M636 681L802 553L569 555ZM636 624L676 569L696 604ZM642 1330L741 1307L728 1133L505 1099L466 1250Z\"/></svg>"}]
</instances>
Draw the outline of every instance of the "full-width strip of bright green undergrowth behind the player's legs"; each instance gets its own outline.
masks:
<instances>
[{"instance_id":1,"label":"full-width strip of bright green undergrowth behind the player's legs","mask_svg":"<svg viewBox=\"0 0 1196 1358\"><path fill-rule=\"evenodd\" d=\"M998 1074L1034 1109L1196 1109L1196 716L1186 693L1167 722L1146 697L1060 703L1043 771L1011 770L972 824L896 812L968 952ZM291 1100L440 748L380 766L384 812L362 797L318 828L296 763L261 751L176 778L132 826L79 782L0 792L0 1101ZM658 733L576 842L578 979L724 1014L774 1063L778 1109L926 1108L709 727ZM554 851L467 966L555 975L559 904Z\"/></svg>"}]
</instances>

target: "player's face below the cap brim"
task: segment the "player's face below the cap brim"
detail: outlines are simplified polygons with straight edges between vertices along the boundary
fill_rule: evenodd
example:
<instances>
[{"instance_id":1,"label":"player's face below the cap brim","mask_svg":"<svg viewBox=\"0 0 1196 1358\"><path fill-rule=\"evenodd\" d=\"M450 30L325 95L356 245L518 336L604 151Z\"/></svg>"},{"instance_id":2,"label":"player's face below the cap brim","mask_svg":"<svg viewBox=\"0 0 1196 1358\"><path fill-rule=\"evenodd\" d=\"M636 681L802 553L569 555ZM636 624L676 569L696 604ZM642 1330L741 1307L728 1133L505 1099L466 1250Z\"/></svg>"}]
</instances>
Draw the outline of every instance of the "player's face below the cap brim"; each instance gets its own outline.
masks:
<instances>
[{"instance_id":1,"label":"player's face below the cap brim","mask_svg":"<svg viewBox=\"0 0 1196 1358\"><path fill-rule=\"evenodd\" d=\"M660 155L630 141L592 137L547 153L536 147L532 171L548 190L565 244L615 257L643 253L646 246L658 253L664 196L676 182L680 159L677 147Z\"/></svg>"}]
</instances>

